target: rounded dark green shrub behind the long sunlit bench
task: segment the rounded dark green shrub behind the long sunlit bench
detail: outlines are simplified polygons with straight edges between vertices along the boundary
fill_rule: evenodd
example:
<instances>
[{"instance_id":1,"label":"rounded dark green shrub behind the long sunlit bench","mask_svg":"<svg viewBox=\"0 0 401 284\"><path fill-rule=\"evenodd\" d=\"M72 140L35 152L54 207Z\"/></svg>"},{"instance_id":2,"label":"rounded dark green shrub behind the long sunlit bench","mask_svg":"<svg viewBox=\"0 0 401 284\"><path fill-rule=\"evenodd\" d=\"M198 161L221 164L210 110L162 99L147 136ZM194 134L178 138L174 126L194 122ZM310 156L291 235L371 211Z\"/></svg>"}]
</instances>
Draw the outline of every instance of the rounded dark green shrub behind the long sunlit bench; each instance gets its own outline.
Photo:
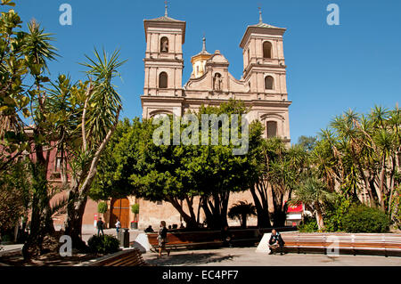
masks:
<instances>
[{"instance_id":1,"label":"rounded dark green shrub behind the long sunlit bench","mask_svg":"<svg viewBox=\"0 0 401 284\"><path fill-rule=\"evenodd\" d=\"M389 217L380 209L357 205L349 208L341 227L347 232L385 232L389 231Z\"/></svg>"}]
</instances>

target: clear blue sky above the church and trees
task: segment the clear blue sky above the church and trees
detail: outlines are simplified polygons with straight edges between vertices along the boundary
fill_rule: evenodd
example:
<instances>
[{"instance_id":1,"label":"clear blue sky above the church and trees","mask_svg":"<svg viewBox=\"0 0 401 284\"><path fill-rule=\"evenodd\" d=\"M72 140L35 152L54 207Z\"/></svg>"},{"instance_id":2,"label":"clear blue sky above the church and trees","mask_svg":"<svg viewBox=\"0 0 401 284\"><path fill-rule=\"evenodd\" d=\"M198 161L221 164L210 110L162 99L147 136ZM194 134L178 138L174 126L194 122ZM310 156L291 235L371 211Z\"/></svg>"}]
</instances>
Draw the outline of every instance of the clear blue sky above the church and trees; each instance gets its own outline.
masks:
<instances>
[{"instance_id":1,"label":"clear blue sky above the church and trees","mask_svg":"<svg viewBox=\"0 0 401 284\"><path fill-rule=\"evenodd\" d=\"M123 97L122 117L141 117L143 19L164 14L162 0L20 0L15 10L26 23L35 18L54 33L61 58L51 62L52 77L69 73L84 77L84 54L94 47L111 53L120 49L128 59L116 80ZM72 25L61 26L59 7L72 6ZM340 26L329 26L328 4L340 7ZM263 21L287 28L284 56L291 140L315 135L342 111L368 112L375 104L394 108L401 98L401 1L398 0L250 0L169 1L168 16L186 21L184 79L192 72L191 56L207 38L209 53L220 50L230 61L229 70L241 77L240 41L248 25Z\"/></svg>"}]
</instances>

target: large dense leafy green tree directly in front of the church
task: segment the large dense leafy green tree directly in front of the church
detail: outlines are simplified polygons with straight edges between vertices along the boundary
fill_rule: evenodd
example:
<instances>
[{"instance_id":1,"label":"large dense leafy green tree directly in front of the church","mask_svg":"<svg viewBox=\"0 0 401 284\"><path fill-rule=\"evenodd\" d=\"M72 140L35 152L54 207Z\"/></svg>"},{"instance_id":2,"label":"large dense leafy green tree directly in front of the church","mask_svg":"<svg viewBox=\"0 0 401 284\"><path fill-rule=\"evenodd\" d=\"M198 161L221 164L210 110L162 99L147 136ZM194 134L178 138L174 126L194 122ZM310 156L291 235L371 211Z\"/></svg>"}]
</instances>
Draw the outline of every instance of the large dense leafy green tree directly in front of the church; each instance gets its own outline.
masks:
<instances>
[{"instance_id":1,"label":"large dense leafy green tree directly in front of the church","mask_svg":"<svg viewBox=\"0 0 401 284\"><path fill-rule=\"evenodd\" d=\"M243 103L230 101L219 108L201 108L196 114L244 113ZM241 112L242 111L242 112ZM173 128L173 117L168 127ZM208 219L209 227L220 228L227 223L227 205L231 191L244 191L255 178L252 170L256 163L250 163L250 156L233 155L233 144L198 145L181 143L173 145L173 135L168 145L153 142L153 133L159 127L153 119L134 119L113 147L112 158L105 158L95 185L97 196L135 195L138 198L169 202L182 215L187 227L199 226L199 210L195 213L195 198L201 199L201 206ZM201 119L199 119L201 121ZM254 124L256 125L256 124ZM181 125L180 134L186 125ZM201 126L196 126L201 127ZM256 127L255 127L256 128ZM259 130L261 127L259 127ZM240 132L241 134L241 132ZM250 127L250 149L254 137L260 131ZM221 136L220 136L221 138ZM111 151L110 151L111 152ZM117 189L113 191L112 189ZM123 195L123 196L124 196ZM184 206L188 209L185 210Z\"/></svg>"}]
</instances>

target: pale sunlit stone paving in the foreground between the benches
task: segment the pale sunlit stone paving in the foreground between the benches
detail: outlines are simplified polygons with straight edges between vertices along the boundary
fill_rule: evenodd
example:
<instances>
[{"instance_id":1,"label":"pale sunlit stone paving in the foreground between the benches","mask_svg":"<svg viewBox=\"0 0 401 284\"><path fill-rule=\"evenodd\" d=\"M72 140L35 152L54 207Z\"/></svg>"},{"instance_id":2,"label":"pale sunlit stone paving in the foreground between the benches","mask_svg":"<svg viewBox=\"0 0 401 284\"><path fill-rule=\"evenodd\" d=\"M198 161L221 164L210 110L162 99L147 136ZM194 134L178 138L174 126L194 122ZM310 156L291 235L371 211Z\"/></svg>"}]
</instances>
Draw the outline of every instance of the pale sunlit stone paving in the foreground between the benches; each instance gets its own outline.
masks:
<instances>
[{"instance_id":1,"label":"pale sunlit stone paving in the foreground between the benches","mask_svg":"<svg viewBox=\"0 0 401 284\"><path fill-rule=\"evenodd\" d=\"M397 256L348 256L329 257L318 254L294 254L283 256L257 253L256 247L233 247L172 251L170 256L157 258L147 252L143 259L149 264L166 266L401 266Z\"/></svg>"}]
</instances>

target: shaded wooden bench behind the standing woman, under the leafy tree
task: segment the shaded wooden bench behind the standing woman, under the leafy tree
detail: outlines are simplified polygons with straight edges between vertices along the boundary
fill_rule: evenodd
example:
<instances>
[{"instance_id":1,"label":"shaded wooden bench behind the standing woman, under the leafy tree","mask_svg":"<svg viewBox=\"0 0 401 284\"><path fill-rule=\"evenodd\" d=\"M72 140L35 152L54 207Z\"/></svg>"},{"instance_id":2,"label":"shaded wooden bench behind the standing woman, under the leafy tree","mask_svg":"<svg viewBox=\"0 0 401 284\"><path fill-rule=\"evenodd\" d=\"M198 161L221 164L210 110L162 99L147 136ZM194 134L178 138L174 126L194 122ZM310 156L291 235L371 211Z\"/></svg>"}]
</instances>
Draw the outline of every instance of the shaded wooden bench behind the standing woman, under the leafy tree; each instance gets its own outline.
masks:
<instances>
[{"instance_id":1,"label":"shaded wooden bench behind the standing woman, under the leafy tree","mask_svg":"<svg viewBox=\"0 0 401 284\"><path fill-rule=\"evenodd\" d=\"M151 250L157 251L159 247L158 233L147 233ZM178 249L185 247L218 247L223 245L221 231L183 231L168 232L166 248Z\"/></svg>"}]
</instances>

